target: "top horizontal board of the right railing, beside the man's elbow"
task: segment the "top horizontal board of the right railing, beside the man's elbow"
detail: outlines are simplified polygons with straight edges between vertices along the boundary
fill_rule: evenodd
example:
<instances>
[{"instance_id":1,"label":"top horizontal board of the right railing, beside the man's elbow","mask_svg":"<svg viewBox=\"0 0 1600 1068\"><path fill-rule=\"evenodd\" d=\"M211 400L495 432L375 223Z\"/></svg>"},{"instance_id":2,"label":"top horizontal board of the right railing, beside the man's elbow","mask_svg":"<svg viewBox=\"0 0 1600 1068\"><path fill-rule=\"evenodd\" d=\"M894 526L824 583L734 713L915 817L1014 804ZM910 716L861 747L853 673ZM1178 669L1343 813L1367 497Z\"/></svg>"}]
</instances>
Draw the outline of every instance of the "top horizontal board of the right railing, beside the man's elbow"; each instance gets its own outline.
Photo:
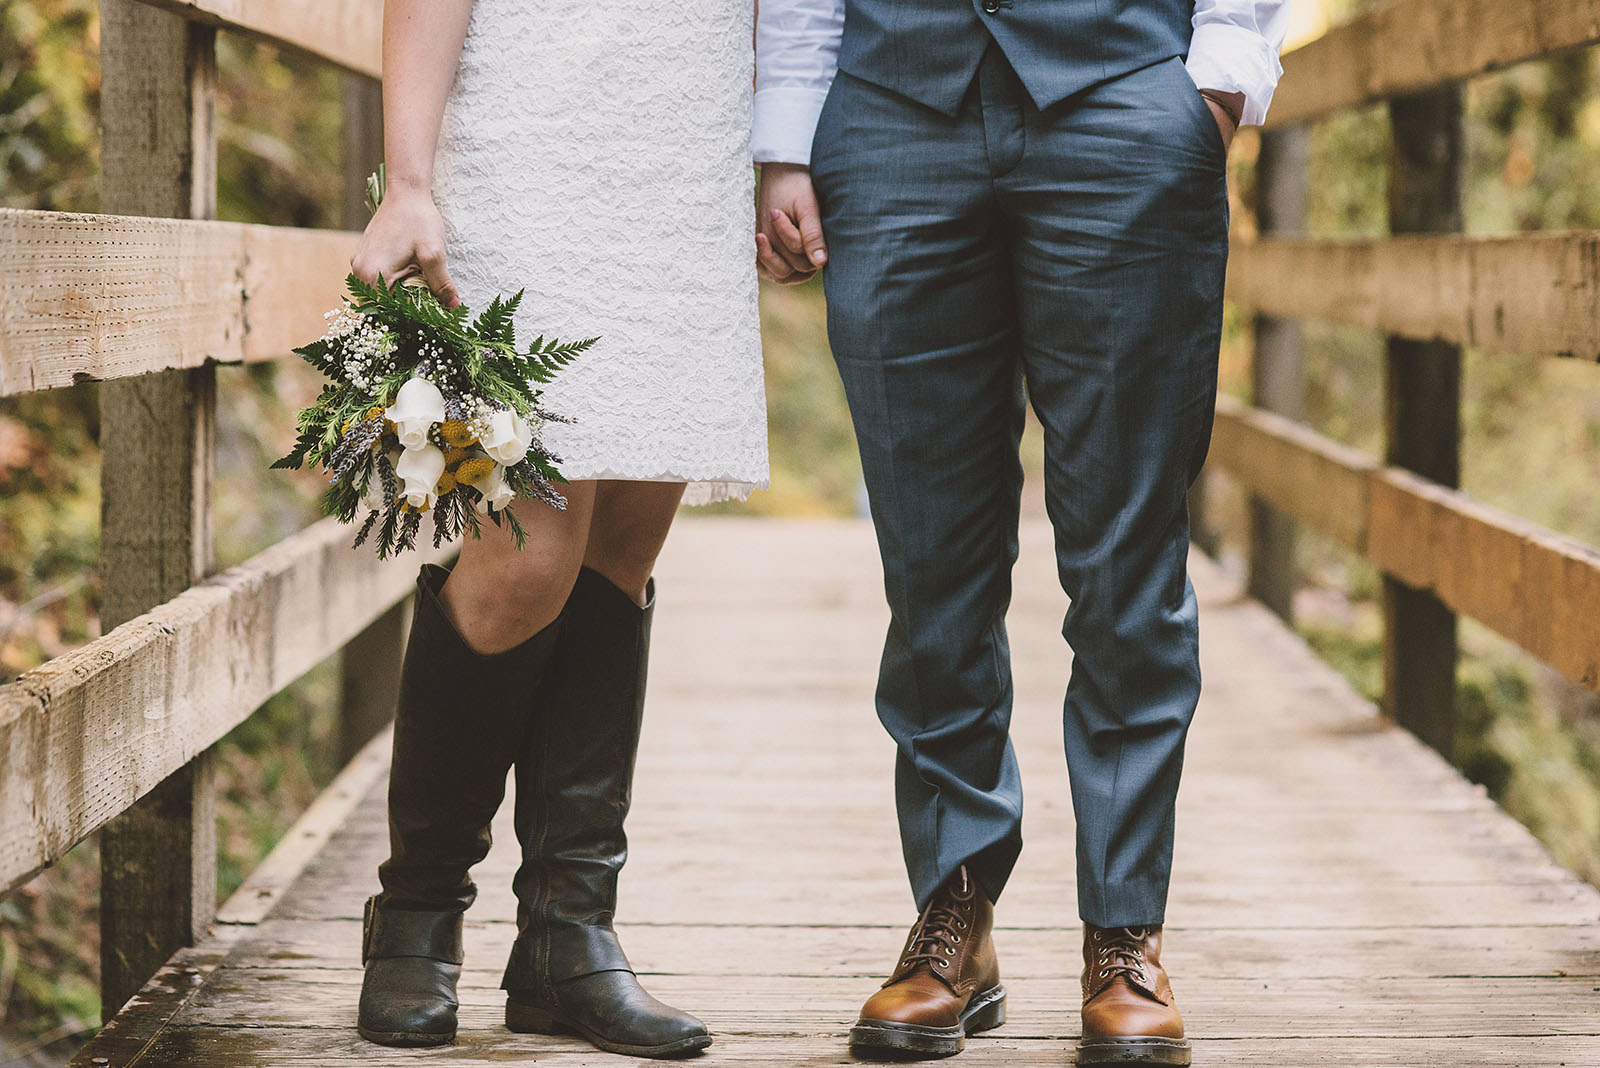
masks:
<instances>
[{"instance_id":1,"label":"top horizontal board of the right railing, beside the man's elbow","mask_svg":"<svg viewBox=\"0 0 1600 1068\"><path fill-rule=\"evenodd\" d=\"M1600 42L1600 0L1394 0L1283 56L1269 123L1322 118Z\"/></svg>"}]
</instances>

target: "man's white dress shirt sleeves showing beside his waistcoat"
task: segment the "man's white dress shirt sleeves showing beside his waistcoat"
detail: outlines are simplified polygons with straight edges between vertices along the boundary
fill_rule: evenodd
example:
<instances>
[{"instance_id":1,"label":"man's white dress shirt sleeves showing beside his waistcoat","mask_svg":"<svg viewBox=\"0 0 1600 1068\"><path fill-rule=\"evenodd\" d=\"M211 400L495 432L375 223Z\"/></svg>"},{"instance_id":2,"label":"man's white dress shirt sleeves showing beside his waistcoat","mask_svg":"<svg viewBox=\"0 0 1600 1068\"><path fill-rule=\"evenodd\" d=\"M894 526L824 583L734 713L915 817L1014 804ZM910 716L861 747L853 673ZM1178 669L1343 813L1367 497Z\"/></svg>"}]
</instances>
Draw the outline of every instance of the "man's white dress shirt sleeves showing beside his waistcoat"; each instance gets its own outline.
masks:
<instances>
[{"instance_id":1,"label":"man's white dress shirt sleeves showing beside his waistcoat","mask_svg":"<svg viewBox=\"0 0 1600 1068\"><path fill-rule=\"evenodd\" d=\"M1288 0L1195 0L1189 77L1202 90L1245 94L1245 125L1267 117L1283 67ZM806 163L838 67L845 0L760 0L755 22L758 163Z\"/></svg>"}]
</instances>

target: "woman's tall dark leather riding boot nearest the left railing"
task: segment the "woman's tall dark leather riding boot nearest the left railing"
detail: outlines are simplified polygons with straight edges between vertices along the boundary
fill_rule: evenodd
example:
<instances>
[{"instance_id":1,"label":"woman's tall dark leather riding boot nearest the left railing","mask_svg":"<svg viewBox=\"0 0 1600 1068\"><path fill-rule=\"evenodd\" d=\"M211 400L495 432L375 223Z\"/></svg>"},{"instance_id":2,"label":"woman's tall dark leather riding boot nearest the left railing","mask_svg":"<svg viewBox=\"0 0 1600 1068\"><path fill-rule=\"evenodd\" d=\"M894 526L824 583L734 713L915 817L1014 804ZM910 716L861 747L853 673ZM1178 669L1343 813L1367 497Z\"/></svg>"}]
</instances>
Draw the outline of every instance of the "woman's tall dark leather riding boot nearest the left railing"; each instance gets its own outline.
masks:
<instances>
[{"instance_id":1,"label":"woman's tall dark leather riding boot nearest the left railing","mask_svg":"<svg viewBox=\"0 0 1600 1068\"><path fill-rule=\"evenodd\" d=\"M456 1038L461 915L477 887L467 870L490 849L490 820L530 726L560 620L506 652L480 656L461 638L440 590L450 572L418 577L416 614L395 713L384 892L362 924L357 1030L384 1046Z\"/></svg>"}]
</instances>

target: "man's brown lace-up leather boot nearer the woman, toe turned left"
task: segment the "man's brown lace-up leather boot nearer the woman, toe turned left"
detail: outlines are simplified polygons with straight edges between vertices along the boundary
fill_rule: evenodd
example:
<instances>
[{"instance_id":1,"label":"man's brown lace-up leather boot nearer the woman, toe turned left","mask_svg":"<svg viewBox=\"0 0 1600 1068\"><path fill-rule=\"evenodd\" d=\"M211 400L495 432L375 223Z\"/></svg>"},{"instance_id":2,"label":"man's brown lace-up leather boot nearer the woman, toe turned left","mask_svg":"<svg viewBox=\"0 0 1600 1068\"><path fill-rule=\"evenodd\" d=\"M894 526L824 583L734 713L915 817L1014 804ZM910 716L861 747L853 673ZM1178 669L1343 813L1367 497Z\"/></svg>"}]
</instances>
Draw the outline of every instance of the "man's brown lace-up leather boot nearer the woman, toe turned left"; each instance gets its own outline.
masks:
<instances>
[{"instance_id":1,"label":"man's brown lace-up leather boot nearer the woman, toe turned left","mask_svg":"<svg viewBox=\"0 0 1600 1068\"><path fill-rule=\"evenodd\" d=\"M888 982L861 1007L850 1046L862 1054L947 1057L1005 1023L994 905L962 867L933 895Z\"/></svg>"}]
</instances>

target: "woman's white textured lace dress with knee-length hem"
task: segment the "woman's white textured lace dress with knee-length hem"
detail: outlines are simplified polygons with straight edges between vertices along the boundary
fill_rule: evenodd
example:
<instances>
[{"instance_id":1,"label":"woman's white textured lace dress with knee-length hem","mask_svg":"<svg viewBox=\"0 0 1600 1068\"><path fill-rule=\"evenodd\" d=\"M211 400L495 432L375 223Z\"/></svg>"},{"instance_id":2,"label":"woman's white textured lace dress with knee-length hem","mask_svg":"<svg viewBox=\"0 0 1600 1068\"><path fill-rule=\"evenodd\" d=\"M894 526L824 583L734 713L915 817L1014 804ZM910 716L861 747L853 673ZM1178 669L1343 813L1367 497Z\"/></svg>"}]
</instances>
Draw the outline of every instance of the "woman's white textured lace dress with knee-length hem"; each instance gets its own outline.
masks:
<instances>
[{"instance_id":1,"label":"woman's white textured lace dress with knee-length hem","mask_svg":"<svg viewBox=\"0 0 1600 1068\"><path fill-rule=\"evenodd\" d=\"M475 0L434 197L461 297L518 339L598 334L546 390L571 480L766 486L752 0ZM533 331L533 333L528 333Z\"/></svg>"}]
</instances>

